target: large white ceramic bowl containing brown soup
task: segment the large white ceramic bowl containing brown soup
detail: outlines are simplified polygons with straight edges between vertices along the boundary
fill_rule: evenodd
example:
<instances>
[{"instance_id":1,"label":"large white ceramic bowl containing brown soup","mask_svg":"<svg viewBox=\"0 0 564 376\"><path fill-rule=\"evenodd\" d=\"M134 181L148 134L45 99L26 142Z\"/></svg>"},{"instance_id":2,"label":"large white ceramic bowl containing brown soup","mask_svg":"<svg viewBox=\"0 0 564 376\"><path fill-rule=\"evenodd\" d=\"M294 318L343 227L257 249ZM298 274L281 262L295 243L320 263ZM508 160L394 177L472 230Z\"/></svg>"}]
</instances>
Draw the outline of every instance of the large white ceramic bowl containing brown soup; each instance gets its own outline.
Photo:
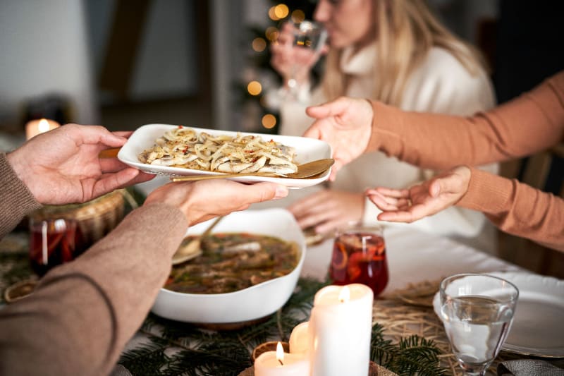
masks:
<instances>
[{"instance_id":1,"label":"large white ceramic bowl containing brown soup","mask_svg":"<svg viewBox=\"0 0 564 376\"><path fill-rule=\"evenodd\" d=\"M202 234L213 220L188 229ZM196 294L161 289L152 312L171 320L201 324L228 324L257 320L281 308L293 293L305 258L305 237L290 212L284 209L247 210L223 218L212 233L247 232L294 241L300 251L298 265L290 274L231 293Z\"/></svg>"}]
</instances>

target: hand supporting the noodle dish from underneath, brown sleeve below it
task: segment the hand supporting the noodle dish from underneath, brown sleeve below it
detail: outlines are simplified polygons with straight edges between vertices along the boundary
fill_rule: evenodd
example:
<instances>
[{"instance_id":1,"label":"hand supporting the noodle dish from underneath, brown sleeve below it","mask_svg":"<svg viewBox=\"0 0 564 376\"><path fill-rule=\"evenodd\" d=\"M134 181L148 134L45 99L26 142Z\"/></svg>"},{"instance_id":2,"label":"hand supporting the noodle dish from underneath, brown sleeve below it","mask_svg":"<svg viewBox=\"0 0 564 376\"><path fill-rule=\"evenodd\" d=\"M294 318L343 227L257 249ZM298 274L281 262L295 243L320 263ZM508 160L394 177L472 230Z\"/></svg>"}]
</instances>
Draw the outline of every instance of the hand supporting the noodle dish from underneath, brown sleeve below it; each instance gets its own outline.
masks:
<instances>
[{"instance_id":1,"label":"hand supporting the noodle dish from underneath, brown sleeve below it","mask_svg":"<svg viewBox=\"0 0 564 376\"><path fill-rule=\"evenodd\" d=\"M152 191L144 205L162 202L178 207L190 226L245 210L255 202L283 198L288 188L274 183L243 184L227 179L168 183Z\"/></svg>"}]
</instances>

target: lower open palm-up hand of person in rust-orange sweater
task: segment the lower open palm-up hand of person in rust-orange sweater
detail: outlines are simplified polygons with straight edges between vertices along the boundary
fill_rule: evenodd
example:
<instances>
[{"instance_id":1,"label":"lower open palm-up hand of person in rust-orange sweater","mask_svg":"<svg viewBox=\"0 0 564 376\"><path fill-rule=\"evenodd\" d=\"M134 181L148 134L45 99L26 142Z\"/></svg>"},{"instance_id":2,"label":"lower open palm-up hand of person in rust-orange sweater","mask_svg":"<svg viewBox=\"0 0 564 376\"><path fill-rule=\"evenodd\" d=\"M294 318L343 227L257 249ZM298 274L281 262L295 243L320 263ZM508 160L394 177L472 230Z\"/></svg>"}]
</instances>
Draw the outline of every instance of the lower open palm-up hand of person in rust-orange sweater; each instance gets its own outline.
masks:
<instances>
[{"instance_id":1,"label":"lower open palm-up hand of person in rust-orange sweater","mask_svg":"<svg viewBox=\"0 0 564 376\"><path fill-rule=\"evenodd\" d=\"M382 212L378 219L411 223L455 205L468 190L471 172L458 166L409 189L376 187L366 194Z\"/></svg>"}]
</instances>

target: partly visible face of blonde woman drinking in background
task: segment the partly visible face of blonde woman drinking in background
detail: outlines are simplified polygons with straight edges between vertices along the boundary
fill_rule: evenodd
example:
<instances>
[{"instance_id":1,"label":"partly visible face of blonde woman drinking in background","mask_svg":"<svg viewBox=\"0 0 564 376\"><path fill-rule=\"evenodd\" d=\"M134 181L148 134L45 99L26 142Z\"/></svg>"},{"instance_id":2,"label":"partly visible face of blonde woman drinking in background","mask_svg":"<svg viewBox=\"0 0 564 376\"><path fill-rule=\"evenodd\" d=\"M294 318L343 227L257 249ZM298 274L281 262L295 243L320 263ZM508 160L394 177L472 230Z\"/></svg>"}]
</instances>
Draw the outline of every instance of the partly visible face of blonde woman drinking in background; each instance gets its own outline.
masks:
<instances>
[{"instance_id":1,"label":"partly visible face of blonde woman drinking in background","mask_svg":"<svg viewBox=\"0 0 564 376\"><path fill-rule=\"evenodd\" d=\"M373 0L319 0L313 18L329 32L331 47L367 44L374 35Z\"/></svg>"}]
</instances>

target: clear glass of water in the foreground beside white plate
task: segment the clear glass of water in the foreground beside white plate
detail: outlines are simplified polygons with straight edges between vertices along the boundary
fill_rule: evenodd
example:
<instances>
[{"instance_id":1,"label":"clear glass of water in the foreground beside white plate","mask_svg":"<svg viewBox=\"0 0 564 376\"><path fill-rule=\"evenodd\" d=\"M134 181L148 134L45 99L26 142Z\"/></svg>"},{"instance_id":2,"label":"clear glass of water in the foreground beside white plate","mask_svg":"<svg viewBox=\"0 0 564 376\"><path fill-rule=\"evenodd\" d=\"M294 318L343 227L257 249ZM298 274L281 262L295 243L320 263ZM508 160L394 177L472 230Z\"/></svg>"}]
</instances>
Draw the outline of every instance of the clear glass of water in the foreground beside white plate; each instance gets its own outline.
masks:
<instances>
[{"instance_id":1,"label":"clear glass of water in the foreground beside white plate","mask_svg":"<svg viewBox=\"0 0 564 376\"><path fill-rule=\"evenodd\" d=\"M465 375L485 375L507 338L519 291L505 279L456 274L441 281L446 335Z\"/></svg>"}]
</instances>

